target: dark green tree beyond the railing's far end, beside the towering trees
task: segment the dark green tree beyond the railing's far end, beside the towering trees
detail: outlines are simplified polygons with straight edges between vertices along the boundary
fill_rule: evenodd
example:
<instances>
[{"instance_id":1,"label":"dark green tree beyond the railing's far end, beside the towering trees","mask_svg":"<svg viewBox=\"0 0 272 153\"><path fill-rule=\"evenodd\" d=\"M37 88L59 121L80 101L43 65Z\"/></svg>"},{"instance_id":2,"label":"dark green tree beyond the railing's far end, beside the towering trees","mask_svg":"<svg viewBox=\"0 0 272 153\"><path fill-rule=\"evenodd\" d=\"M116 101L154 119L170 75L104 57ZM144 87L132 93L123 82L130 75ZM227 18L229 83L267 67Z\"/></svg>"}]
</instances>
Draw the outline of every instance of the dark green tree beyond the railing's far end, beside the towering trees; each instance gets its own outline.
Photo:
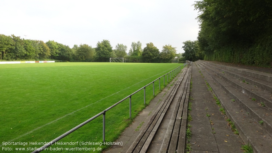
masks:
<instances>
[{"instance_id":1,"label":"dark green tree beyond the railing's far end, beside the towering trees","mask_svg":"<svg viewBox=\"0 0 272 153\"><path fill-rule=\"evenodd\" d=\"M197 41L191 41L187 40L183 42L184 46L182 48L184 49L184 53L182 56L184 56L185 60L189 61L196 61L200 58L201 54L198 49L198 42Z\"/></svg>"}]
</instances>

